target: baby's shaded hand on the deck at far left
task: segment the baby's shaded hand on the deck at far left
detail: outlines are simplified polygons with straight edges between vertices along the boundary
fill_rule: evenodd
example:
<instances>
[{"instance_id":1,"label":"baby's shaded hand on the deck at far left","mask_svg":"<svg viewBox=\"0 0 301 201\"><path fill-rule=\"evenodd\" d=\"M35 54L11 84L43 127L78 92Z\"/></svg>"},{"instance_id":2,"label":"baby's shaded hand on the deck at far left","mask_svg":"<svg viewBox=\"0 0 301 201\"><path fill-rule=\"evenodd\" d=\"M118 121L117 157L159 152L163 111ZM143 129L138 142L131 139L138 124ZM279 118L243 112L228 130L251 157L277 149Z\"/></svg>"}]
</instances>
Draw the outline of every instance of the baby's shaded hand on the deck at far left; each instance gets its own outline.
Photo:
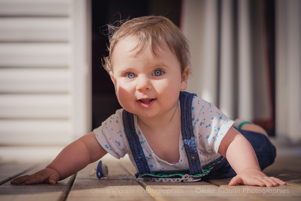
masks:
<instances>
[{"instance_id":1,"label":"baby's shaded hand on the deck at far left","mask_svg":"<svg viewBox=\"0 0 301 201\"><path fill-rule=\"evenodd\" d=\"M51 168L42 169L32 175L20 176L11 181L12 184L37 184L50 183L55 184L60 179L60 174Z\"/></svg>"}]
</instances>

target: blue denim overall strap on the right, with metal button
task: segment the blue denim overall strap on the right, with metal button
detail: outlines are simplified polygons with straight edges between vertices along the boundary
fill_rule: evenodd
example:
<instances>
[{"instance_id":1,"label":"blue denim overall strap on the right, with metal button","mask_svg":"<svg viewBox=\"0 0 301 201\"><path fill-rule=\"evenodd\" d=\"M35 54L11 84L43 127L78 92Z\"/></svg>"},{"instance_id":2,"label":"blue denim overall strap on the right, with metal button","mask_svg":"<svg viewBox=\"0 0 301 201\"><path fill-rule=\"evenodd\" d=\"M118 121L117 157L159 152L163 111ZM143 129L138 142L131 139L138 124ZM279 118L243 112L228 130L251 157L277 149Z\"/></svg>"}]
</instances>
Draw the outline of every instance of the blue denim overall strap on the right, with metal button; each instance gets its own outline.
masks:
<instances>
[{"instance_id":1,"label":"blue denim overall strap on the right, with metal button","mask_svg":"<svg viewBox=\"0 0 301 201\"><path fill-rule=\"evenodd\" d=\"M180 91L181 132L191 175L203 173L192 127L192 99L195 94Z\"/></svg>"}]
</instances>

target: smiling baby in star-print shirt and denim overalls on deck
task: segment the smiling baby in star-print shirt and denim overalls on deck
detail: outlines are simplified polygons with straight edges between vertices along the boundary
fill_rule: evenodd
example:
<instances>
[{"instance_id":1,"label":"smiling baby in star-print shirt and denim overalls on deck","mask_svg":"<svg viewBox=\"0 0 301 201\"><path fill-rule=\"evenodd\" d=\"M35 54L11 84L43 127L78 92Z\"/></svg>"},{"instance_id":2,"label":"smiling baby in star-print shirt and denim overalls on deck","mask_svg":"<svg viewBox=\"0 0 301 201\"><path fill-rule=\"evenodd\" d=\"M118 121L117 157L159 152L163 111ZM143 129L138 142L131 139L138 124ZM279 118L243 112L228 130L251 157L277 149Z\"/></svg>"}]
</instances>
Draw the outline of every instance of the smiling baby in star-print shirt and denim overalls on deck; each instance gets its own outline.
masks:
<instances>
[{"instance_id":1,"label":"smiling baby in star-print shirt and denim overalls on deck","mask_svg":"<svg viewBox=\"0 0 301 201\"><path fill-rule=\"evenodd\" d=\"M214 105L184 91L190 53L177 26L147 16L111 28L104 67L123 109L64 148L45 169L11 183L55 184L110 153L128 154L140 177L188 172L194 178L233 177L229 185L285 185L261 172L275 158L261 127L241 122L235 129Z\"/></svg>"}]
</instances>

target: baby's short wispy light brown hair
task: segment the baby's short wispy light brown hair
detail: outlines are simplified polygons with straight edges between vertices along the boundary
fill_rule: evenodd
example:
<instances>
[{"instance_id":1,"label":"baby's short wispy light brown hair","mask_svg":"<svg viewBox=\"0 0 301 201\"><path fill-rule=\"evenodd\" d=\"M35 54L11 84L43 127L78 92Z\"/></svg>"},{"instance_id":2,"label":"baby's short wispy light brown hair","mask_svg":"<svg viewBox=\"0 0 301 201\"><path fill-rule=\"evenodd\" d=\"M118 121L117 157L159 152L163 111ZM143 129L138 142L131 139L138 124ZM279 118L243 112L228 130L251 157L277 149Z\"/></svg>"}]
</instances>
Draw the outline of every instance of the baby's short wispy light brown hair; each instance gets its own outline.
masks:
<instances>
[{"instance_id":1,"label":"baby's short wispy light brown hair","mask_svg":"<svg viewBox=\"0 0 301 201\"><path fill-rule=\"evenodd\" d=\"M189 42L182 34L181 30L169 19L162 16L145 16L134 18L121 23L120 26L109 25L109 56L104 57L103 67L107 72L111 69L112 52L118 41L127 36L138 38L136 54L139 54L145 48L150 48L156 55L158 47L167 44L170 50L178 58L182 73L190 65Z\"/></svg>"}]
</instances>

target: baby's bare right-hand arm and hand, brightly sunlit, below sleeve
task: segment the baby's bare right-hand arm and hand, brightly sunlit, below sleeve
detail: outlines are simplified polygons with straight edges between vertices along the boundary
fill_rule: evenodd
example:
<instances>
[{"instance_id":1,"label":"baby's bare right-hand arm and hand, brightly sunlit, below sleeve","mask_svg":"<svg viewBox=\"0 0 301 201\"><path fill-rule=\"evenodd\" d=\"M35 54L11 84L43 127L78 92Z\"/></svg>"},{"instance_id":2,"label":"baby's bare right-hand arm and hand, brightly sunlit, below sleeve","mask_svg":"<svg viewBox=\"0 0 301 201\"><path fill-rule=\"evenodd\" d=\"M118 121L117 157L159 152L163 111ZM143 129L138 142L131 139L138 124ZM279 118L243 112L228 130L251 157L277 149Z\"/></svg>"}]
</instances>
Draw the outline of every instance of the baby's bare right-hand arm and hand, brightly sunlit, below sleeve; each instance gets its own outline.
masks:
<instances>
[{"instance_id":1,"label":"baby's bare right-hand arm and hand, brightly sunlit, below sleeve","mask_svg":"<svg viewBox=\"0 0 301 201\"><path fill-rule=\"evenodd\" d=\"M256 154L249 141L233 127L223 138L219 151L227 158L231 167L237 173L229 185L285 185L285 182L275 177L268 177L261 172Z\"/></svg>"}]
</instances>

